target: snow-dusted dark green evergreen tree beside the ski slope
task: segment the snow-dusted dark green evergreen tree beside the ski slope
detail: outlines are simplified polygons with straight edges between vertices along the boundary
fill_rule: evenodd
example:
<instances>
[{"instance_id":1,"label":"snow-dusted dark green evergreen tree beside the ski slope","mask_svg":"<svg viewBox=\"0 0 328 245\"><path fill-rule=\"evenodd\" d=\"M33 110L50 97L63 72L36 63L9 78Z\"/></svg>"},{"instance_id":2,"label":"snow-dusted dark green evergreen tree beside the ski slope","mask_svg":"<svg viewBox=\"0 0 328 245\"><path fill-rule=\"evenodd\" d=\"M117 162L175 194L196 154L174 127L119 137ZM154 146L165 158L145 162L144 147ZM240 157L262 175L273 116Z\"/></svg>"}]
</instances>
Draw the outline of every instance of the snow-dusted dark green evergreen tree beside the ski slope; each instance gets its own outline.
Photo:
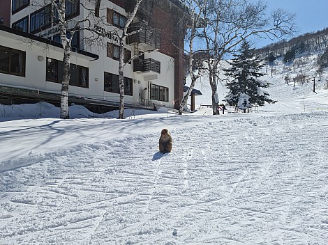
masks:
<instances>
[{"instance_id":1,"label":"snow-dusted dark green evergreen tree beside the ski slope","mask_svg":"<svg viewBox=\"0 0 328 245\"><path fill-rule=\"evenodd\" d=\"M232 67L225 70L226 76L234 78L227 83L230 92L225 96L225 101L230 106L243 109L244 112L255 105L263 106L265 102L275 102L269 99L269 93L262 89L270 84L258 79L264 74L260 72L262 61L255 57L254 50L249 42L242 42L240 54L234 55L232 62L229 62Z\"/></svg>"}]
</instances>

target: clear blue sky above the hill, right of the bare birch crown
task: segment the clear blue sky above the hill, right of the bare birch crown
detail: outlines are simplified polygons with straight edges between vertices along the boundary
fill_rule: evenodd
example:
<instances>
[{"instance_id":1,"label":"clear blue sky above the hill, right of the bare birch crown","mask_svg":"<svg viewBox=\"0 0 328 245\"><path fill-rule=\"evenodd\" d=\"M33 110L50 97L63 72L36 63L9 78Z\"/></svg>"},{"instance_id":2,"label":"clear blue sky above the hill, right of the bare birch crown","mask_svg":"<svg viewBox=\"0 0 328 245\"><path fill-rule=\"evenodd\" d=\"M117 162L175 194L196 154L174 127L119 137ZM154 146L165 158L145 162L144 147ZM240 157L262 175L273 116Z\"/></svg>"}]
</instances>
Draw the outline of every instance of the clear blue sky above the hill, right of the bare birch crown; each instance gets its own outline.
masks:
<instances>
[{"instance_id":1,"label":"clear blue sky above the hill, right of the bare birch crown","mask_svg":"<svg viewBox=\"0 0 328 245\"><path fill-rule=\"evenodd\" d=\"M301 35L328 27L328 0L267 0L268 10L283 8L295 13L295 22ZM290 38L286 38L290 39ZM256 46L262 47L272 41L262 40Z\"/></svg>"}]
</instances>

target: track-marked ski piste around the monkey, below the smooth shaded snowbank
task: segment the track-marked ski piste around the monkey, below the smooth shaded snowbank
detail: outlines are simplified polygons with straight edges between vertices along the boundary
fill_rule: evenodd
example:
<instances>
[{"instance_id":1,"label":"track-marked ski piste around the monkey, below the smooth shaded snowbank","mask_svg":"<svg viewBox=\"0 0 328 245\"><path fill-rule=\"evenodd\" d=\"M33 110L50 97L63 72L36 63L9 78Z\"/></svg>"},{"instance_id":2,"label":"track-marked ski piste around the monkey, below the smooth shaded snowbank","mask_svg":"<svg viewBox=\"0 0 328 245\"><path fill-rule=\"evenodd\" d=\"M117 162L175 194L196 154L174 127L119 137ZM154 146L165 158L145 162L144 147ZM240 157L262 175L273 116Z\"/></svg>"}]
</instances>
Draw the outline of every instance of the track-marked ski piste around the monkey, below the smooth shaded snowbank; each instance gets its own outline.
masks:
<instances>
[{"instance_id":1,"label":"track-marked ski piste around the monkey, below the smooth shaded snowbank","mask_svg":"<svg viewBox=\"0 0 328 245\"><path fill-rule=\"evenodd\" d=\"M327 244L327 116L172 129L165 155L156 133L47 153L0 173L0 244Z\"/></svg>"}]
</instances>

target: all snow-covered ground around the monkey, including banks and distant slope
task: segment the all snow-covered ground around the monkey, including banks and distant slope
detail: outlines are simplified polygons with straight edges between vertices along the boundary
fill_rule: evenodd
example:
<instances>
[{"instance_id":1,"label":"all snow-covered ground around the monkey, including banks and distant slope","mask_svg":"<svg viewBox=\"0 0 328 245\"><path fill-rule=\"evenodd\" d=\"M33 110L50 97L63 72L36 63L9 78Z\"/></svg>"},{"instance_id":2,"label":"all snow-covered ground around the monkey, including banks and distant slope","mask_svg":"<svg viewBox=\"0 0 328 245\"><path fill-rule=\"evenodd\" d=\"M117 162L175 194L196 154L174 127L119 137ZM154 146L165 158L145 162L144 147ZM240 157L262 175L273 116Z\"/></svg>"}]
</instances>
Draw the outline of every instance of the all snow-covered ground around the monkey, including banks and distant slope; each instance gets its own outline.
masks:
<instances>
[{"instance_id":1,"label":"all snow-covered ground around the monkey, including banks and distant slope","mask_svg":"<svg viewBox=\"0 0 328 245\"><path fill-rule=\"evenodd\" d=\"M258 113L0 106L0 244L328 244L326 81L284 69Z\"/></svg>"}]
</instances>

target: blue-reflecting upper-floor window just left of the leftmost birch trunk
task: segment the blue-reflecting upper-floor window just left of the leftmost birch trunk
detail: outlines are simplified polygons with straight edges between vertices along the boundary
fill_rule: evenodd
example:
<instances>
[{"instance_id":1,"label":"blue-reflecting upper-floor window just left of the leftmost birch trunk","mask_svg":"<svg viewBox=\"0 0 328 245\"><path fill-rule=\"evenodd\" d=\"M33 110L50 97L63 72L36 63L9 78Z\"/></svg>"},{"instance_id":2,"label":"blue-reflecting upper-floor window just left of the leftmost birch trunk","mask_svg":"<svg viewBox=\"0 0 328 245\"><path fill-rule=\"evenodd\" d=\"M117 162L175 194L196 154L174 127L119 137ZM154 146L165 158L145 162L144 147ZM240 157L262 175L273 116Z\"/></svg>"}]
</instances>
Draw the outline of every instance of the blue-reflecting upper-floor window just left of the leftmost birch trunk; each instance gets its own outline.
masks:
<instances>
[{"instance_id":1,"label":"blue-reflecting upper-floor window just left of the leftmost birch trunk","mask_svg":"<svg viewBox=\"0 0 328 245\"><path fill-rule=\"evenodd\" d=\"M30 15L30 32L36 33L38 31L50 27L51 6L48 5Z\"/></svg>"}]
</instances>

